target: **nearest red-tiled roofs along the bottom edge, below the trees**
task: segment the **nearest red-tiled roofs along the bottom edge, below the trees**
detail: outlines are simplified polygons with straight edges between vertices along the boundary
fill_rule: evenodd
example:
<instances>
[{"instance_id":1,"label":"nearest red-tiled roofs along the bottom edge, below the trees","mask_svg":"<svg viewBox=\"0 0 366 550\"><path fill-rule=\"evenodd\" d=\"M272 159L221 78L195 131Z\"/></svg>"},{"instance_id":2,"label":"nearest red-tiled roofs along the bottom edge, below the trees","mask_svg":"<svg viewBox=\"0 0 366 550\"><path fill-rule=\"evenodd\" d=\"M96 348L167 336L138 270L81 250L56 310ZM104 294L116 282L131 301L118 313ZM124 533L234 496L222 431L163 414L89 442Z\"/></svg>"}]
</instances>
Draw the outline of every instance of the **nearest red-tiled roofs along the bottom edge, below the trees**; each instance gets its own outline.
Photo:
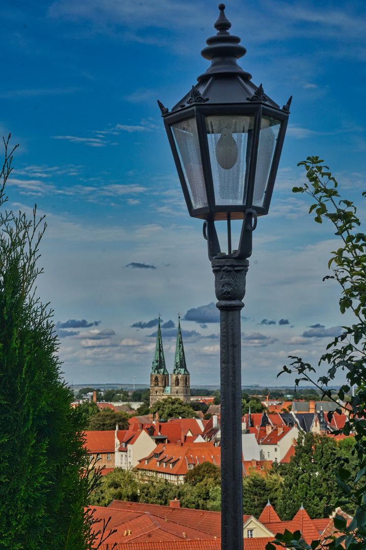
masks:
<instances>
[{"instance_id":1,"label":"nearest red-tiled roofs along the bottom edge, below the trees","mask_svg":"<svg viewBox=\"0 0 366 550\"><path fill-rule=\"evenodd\" d=\"M337 510L349 525L352 518ZM300 531L308 544L313 540L325 542L330 536L339 536L334 526L334 515L325 519L311 519L301 506L291 521L281 521L268 501L259 518L244 515L243 550L264 550L277 533L285 529ZM110 518L109 526L115 530L100 548L107 550L116 543L123 550L220 550L221 513L180 508L179 500L170 506L123 502L113 500L106 507L96 507L93 513L95 532ZM108 534L108 529L104 536ZM102 533L99 537L102 536ZM99 542L99 541L97 541Z\"/></svg>"}]
</instances>

